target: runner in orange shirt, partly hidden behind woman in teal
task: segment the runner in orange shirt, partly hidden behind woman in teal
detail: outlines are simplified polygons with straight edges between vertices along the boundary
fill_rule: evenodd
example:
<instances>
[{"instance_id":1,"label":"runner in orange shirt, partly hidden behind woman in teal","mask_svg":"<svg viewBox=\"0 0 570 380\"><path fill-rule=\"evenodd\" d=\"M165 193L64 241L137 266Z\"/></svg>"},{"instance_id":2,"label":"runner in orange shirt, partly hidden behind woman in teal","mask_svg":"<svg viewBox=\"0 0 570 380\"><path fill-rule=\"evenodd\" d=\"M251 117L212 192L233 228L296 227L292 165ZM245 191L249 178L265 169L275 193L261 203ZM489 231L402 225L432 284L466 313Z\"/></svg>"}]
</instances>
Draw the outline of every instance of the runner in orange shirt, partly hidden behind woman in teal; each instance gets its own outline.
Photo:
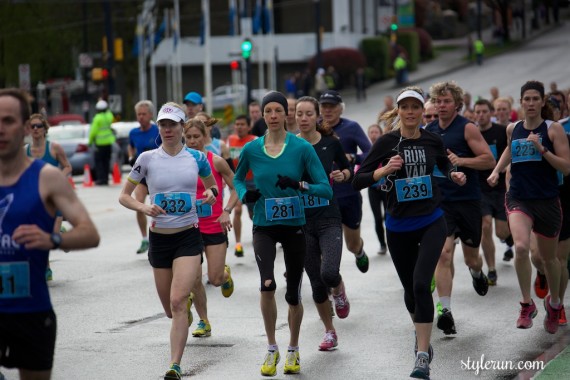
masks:
<instances>
[{"instance_id":1,"label":"runner in orange shirt, partly hidden behind woman in teal","mask_svg":"<svg viewBox=\"0 0 570 380\"><path fill-rule=\"evenodd\" d=\"M258 105L259 106L259 105ZM243 146L250 141L253 141L257 136L252 135L251 124L246 115L238 115L234 121L234 134L228 136L228 146L230 149L230 157L233 160L233 167L237 168L239 162L239 156L243 149ZM255 183L253 183L253 174L251 170L247 172L245 177L245 184L248 190L255 189ZM249 218L253 220L253 206L255 203L248 203L247 212ZM233 228L234 235L236 239L235 255L236 257L243 257L243 245L241 244L241 214L242 214L242 203L238 201L234 208L234 219Z\"/></svg>"}]
</instances>

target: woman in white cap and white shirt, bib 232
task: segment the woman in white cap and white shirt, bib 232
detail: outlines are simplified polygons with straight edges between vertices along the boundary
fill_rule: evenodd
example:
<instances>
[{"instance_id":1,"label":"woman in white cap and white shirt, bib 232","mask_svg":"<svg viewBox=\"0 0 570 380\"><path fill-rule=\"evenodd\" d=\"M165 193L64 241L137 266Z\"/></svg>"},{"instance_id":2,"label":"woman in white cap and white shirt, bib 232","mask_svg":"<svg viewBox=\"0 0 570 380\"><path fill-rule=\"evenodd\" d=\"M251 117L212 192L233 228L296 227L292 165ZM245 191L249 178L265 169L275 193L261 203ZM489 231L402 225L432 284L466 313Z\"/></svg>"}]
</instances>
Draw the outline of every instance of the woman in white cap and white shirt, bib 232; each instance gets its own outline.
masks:
<instances>
[{"instance_id":1,"label":"woman in white cap and white shirt, bib 232","mask_svg":"<svg viewBox=\"0 0 570 380\"><path fill-rule=\"evenodd\" d=\"M182 144L186 115L176 103L164 104L157 117L162 145L143 152L119 197L128 209L152 217L148 259L153 268L156 290L170 330L170 366L164 379L180 379L180 361L192 324L192 297L200 273L204 245L198 229L196 187L200 178L206 191L203 204L214 204L219 193L206 156ZM133 198L132 193L146 178L151 204Z\"/></svg>"}]
</instances>

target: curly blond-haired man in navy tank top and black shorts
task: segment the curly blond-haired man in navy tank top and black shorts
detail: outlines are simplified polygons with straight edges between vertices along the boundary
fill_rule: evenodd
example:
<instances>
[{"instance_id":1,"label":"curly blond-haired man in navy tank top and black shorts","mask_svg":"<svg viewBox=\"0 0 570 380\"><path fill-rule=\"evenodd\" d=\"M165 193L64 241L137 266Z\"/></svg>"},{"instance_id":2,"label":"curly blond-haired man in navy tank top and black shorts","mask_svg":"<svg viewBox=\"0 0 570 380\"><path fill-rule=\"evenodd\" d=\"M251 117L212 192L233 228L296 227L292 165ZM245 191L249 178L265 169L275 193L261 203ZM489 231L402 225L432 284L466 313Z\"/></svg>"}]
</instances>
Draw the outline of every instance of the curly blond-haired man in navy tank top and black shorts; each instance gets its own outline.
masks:
<instances>
[{"instance_id":1,"label":"curly blond-haired man in navy tank top and black shorts","mask_svg":"<svg viewBox=\"0 0 570 380\"><path fill-rule=\"evenodd\" d=\"M441 207L447 222L447 239L435 270L437 293L441 302L441 310L438 305L437 327L449 335L456 334L451 314L455 238L461 239L465 264L473 277L475 291L484 296L489 289L479 254L482 216L477 171L493 169L495 159L475 124L459 115L463 108L461 87L453 81L437 83L431 86L430 95L434 99L439 118L432 121L426 130L441 136L449 161L467 176L467 183L460 187L449 181L445 173L438 175L434 170L434 177L443 194Z\"/></svg>"}]
</instances>

